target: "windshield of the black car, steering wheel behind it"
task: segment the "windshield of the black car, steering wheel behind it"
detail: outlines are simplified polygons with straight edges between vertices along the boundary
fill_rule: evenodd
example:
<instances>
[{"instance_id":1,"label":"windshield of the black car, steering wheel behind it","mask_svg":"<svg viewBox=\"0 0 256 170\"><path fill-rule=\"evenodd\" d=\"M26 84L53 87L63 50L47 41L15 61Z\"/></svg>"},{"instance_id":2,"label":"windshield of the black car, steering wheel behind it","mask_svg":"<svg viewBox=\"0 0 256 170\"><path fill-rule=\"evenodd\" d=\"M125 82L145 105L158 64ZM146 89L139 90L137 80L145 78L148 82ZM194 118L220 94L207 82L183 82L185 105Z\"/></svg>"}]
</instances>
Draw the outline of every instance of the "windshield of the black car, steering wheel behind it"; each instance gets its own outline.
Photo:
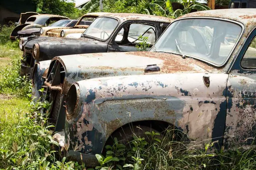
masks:
<instances>
[{"instance_id":1,"label":"windshield of the black car, steering wheel behind it","mask_svg":"<svg viewBox=\"0 0 256 170\"><path fill-rule=\"evenodd\" d=\"M106 40L116 28L118 21L112 18L96 18L92 24L85 30L83 35ZM82 36L83 36L82 35Z\"/></svg>"}]
</instances>

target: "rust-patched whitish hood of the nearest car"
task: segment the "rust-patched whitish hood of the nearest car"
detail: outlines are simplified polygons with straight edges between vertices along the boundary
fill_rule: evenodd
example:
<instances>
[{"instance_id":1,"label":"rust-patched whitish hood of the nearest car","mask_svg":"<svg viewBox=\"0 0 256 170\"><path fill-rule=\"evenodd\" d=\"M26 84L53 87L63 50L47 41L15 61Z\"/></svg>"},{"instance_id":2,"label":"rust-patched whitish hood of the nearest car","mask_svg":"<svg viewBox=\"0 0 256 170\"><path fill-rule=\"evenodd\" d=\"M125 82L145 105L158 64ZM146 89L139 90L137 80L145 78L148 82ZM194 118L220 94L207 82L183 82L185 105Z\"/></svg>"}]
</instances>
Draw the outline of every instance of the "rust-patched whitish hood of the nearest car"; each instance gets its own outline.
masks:
<instances>
[{"instance_id":1,"label":"rust-patched whitish hood of the nearest car","mask_svg":"<svg viewBox=\"0 0 256 170\"><path fill-rule=\"evenodd\" d=\"M64 93L74 82L98 77L184 72L208 73L218 70L197 59L189 57L183 59L177 54L148 51L76 54L54 57L52 63L55 62L54 60L58 60L61 67L65 69L62 88ZM147 65L152 64L159 66L160 71L145 73L144 69ZM49 70L52 69L49 68ZM49 72L48 76L50 74ZM53 73L53 75L59 74Z\"/></svg>"}]
</instances>

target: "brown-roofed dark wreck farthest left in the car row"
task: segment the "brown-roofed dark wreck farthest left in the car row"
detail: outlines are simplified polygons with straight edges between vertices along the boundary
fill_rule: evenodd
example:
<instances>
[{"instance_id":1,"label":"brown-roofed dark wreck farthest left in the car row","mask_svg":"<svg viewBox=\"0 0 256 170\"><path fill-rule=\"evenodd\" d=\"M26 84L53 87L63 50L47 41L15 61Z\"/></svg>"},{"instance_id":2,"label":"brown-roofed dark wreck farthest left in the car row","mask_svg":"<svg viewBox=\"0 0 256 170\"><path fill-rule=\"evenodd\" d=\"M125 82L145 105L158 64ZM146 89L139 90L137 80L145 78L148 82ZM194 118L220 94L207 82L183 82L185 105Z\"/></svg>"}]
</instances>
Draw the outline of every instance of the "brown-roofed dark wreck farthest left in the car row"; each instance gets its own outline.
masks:
<instances>
[{"instance_id":1,"label":"brown-roofed dark wreck farthest left in the car row","mask_svg":"<svg viewBox=\"0 0 256 170\"><path fill-rule=\"evenodd\" d=\"M30 14L30 13L29 13ZM24 15L23 18L26 18L28 15ZM21 15L21 21L23 21L22 15ZM67 17L59 16L59 15L50 15L50 14L38 14L38 15L32 15L30 16L24 24L18 25L15 27L10 35L11 40L16 40L17 38L20 38L22 36L39 36L39 30L42 27L46 27L50 25L50 23L62 20L62 19L69 19ZM26 32L24 35L23 30L32 29L29 32Z\"/></svg>"}]
</instances>

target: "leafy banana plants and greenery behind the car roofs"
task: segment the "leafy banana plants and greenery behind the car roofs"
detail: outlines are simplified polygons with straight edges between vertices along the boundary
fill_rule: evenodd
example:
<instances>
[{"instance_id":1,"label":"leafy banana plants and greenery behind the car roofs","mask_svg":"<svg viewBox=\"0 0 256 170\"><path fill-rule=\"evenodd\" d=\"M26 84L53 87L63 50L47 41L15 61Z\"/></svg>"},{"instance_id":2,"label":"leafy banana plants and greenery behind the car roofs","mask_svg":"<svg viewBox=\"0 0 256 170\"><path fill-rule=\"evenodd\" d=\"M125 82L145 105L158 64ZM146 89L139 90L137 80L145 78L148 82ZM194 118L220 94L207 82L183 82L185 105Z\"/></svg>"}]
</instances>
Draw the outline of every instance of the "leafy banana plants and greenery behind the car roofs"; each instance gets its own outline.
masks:
<instances>
[{"instance_id":1,"label":"leafy banana plants and greenery behind the car roofs","mask_svg":"<svg viewBox=\"0 0 256 170\"><path fill-rule=\"evenodd\" d=\"M174 10L172 4L178 3L183 6L183 9ZM171 18L177 18L180 15L190 13L192 9L202 11L210 10L206 5L192 0L105 0L103 5L104 12L115 13L141 13L148 15L158 15ZM91 0L84 7L83 11L98 12L99 0Z\"/></svg>"}]
</instances>

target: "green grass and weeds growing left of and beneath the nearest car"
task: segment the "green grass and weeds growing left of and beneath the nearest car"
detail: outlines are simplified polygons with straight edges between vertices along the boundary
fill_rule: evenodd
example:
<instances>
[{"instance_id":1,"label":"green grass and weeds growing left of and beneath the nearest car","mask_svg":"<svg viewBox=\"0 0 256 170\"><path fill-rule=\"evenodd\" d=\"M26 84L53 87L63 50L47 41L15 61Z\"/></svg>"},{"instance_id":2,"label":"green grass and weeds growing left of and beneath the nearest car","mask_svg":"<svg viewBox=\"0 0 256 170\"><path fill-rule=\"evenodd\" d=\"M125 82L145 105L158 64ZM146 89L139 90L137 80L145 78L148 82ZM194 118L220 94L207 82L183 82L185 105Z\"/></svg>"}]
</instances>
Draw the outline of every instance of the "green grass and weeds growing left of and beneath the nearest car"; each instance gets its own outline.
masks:
<instances>
[{"instance_id":1,"label":"green grass and weeds growing left of and beneath the nearest car","mask_svg":"<svg viewBox=\"0 0 256 170\"><path fill-rule=\"evenodd\" d=\"M121 3L113 2L115 10L127 10ZM47 122L47 112L41 112L42 109L49 109L50 104L46 101L31 101L31 82L19 76L22 52L17 42L9 41L12 29L13 26L4 26L0 32L0 59L4 61L0 65L0 169L85 170L84 165L66 157L58 157L58 151L51 147L58 148L58 143L52 138L53 131ZM138 50L148 48L146 37L140 37L139 41ZM105 146L104 155L96 155L99 165L94 169L256 169L254 145L247 150L222 148L214 151L217 144L214 142L203 145L189 143L185 137L177 140L177 136L184 134L173 127L163 133L165 135L150 130L140 136L134 134L128 144L114 138L113 144ZM209 152L212 154L207 154Z\"/></svg>"}]
</instances>

